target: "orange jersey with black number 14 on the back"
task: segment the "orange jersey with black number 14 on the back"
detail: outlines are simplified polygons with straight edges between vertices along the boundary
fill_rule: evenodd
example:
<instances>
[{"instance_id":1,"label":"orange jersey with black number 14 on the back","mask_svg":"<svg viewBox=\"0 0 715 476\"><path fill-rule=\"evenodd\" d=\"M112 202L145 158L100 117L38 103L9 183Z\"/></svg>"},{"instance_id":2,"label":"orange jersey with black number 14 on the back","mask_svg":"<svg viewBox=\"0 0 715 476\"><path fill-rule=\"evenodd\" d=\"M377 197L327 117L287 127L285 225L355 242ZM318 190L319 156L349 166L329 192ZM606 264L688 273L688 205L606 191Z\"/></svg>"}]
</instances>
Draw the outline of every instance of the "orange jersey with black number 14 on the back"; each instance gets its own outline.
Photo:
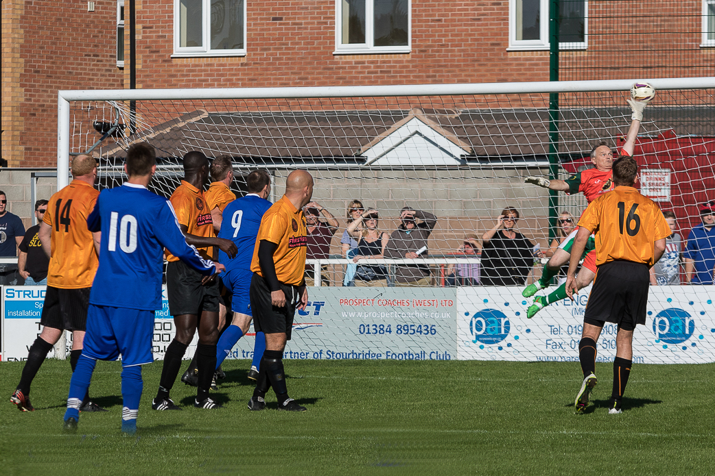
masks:
<instances>
[{"instance_id":1,"label":"orange jersey with black number 14 on the back","mask_svg":"<svg viewBox=\"0 0 715 476\"><path fill-rule=\"evenodd\" d=\"M99 192L89 183L73 180L55 193L42 221L52 227L47 284L54 288L91 288L99 260L87 217Z\"/></svg>"}]
</instances>

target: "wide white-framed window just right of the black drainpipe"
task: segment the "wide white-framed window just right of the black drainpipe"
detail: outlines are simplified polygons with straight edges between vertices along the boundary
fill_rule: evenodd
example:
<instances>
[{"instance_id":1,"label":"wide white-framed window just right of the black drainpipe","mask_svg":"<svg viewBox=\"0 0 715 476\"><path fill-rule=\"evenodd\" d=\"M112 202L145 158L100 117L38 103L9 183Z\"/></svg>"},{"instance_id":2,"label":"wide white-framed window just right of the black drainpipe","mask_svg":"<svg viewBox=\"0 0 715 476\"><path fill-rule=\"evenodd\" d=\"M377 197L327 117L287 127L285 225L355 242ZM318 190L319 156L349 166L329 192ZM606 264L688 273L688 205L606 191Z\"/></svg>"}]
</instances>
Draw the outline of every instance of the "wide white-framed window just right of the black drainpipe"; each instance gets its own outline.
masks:
<instances>
[{"instance_id":1,"label":"wide white-framed window just right of the black drainpipe","mask_svg":"<svg viewBox=\"0 0 715 476\"><path fill-rule=\"evenodd\" d=\"M172 56L246 54L245 0L174 0Z\"/></svg>"}]
</instances>

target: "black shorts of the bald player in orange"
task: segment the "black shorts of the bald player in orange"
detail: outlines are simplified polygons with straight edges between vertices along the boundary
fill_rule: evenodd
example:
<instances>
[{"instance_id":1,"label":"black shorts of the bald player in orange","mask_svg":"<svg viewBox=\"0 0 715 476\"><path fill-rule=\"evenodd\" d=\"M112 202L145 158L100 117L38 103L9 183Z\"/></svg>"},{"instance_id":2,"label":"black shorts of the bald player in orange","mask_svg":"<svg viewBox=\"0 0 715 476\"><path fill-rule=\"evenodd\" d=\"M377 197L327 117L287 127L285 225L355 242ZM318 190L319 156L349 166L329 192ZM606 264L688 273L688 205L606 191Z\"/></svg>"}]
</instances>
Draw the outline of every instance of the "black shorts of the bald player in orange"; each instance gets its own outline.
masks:
<instances>
[{"instance_id":1,"label":"black shorts of the bald player in orange","mask_svg":"<svg viewBox=\"0 0 715 476\"><path fill-rule=\"evenodd\" d=\"M285 338L290 340L300 293L297 286L280 283L280 288L285 293L285 308L277 308L272 304L270 288L265 279L258 273L253 273L250 290L253 327L256 332L265 334L285 333Z\"/></svg>"}]
</instances>

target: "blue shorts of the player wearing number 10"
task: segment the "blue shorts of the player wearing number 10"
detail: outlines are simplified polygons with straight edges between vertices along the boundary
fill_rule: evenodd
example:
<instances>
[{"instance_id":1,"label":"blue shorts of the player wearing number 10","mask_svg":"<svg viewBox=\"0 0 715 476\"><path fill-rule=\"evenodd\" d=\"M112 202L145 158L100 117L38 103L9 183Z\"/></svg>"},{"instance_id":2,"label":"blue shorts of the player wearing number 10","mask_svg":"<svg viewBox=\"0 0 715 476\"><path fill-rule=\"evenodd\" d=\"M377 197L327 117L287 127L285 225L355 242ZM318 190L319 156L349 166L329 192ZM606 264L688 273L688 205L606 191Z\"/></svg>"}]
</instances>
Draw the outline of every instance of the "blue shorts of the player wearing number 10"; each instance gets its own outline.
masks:
<instances>
[{"instance_id":1,"label":"blue shorts of the player wearing number 10","mask_svg":"<svg viewBox=\"0 0 715 476\"><path fill-rule=\"evenodd\" d=\"M90 304L82 355L94 360L117 360L121 354L124 367L152 363L153 336L153 310Z\"/></svg>"}]
</instances>

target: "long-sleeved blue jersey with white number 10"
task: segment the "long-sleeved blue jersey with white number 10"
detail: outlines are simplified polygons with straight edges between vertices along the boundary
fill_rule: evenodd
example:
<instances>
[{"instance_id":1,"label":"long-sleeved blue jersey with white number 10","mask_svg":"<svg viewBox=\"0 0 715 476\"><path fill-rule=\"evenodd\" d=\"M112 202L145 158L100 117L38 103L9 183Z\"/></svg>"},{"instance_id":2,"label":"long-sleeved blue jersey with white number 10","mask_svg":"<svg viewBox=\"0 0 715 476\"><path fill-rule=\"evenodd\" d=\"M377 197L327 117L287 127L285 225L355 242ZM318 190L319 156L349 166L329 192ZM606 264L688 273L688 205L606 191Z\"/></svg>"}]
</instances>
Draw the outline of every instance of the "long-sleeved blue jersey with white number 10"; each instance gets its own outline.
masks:
<instances>
[{"instance_id":1,"label":"long-sleeved blue jersey with white number 10","mask_svg":"<svg viewBox=\"0 0 715 476\"><path fill-rule=\"evenodd\" d=\"M142 186L124 183L99 193L87 228L102 231L91 304L161 309L164 247L199 273L215 273L214 263L187 245L171 203Z\"/></svg>"}]
</instances>

